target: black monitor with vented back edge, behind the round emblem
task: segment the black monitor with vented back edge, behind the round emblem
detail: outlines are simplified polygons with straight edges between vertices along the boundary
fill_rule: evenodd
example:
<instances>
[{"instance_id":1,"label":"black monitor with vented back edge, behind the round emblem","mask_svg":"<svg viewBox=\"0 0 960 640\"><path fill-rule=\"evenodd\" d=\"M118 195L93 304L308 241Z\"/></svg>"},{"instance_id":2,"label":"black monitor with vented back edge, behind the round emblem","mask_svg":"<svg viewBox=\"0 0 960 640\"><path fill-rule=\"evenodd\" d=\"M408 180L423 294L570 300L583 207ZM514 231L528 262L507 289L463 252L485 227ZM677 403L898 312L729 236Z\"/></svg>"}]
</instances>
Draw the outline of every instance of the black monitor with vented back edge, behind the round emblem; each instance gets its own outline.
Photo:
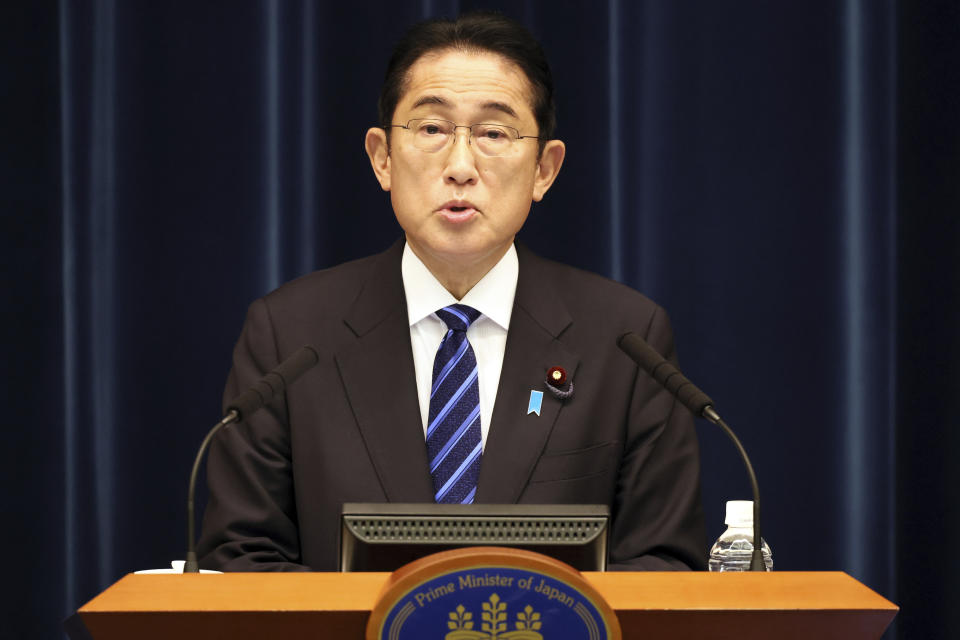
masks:
<instances>
[{"instance_id":1,"label":"black monitor with vented back edge, behind the round emblem","mask_svg":"<svg viewBox=\"0 0 960 640\"><path fill-rule=\"evenodd\" d=\"M606 505L347 503L341 571L395 571L460 547L515 547L580 571L605 571Z\"/></svg>"}]
</instances>

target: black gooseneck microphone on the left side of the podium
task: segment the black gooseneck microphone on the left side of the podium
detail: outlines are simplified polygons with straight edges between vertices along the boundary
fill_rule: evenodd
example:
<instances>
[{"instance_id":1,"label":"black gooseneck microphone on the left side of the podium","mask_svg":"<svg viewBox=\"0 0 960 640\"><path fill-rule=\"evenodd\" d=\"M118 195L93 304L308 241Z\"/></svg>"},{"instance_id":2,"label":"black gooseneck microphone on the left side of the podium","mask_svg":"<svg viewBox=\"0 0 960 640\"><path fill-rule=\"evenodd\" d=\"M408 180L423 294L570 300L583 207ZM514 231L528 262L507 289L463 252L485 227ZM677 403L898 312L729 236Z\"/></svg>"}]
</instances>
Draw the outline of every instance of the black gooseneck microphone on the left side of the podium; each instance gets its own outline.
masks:
<instances>
[{"instance_id":1,"label":"black gooseneck microphone on the left side of the podium","mask_svg":"<svg viewBox=\"0 0 960 640\"><path fill-rule=\"evenodd\" d=\"M190 486L187 489L187 559L183 564L184 573L198 573L197 564L196 523L194 520L193 498L197 487L197 473L200 470L200 461L213 436L223 427L239 422L256 413L270 402L274 396L283 391L302 376L308 369L320 361L320 354L310 345L304 345L292 356L281 362L276 369L260 378L255 385L234 398L227 405L227 412L223 419L215 424L200 444L197 457L193 461L193 470L190 472Z\"/></svg>"}]
</instances>

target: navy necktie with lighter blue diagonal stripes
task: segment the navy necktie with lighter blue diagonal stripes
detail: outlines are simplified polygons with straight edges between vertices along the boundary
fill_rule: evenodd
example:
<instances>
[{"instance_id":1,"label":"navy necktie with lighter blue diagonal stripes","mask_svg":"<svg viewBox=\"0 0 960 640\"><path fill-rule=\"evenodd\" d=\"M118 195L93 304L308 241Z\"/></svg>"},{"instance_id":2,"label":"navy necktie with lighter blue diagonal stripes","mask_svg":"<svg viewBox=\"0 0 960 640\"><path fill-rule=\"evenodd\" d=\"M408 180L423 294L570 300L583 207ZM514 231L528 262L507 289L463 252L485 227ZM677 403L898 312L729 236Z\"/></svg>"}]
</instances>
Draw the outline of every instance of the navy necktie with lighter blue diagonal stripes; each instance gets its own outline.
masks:
<instances>
[{"instance_id":1,"label":"navy necktie with lighter blue diagonal stripes","mask_svg":"<svg viewBox=\"0 0 960 640\"><path fill-rule=\"evenodd\" d=\"M480 475L480 386L467 327L480 312L463 304L437 311L447 325L433 361L427 459L438 503L470 504Z\"/></svg>"}]
</instances>

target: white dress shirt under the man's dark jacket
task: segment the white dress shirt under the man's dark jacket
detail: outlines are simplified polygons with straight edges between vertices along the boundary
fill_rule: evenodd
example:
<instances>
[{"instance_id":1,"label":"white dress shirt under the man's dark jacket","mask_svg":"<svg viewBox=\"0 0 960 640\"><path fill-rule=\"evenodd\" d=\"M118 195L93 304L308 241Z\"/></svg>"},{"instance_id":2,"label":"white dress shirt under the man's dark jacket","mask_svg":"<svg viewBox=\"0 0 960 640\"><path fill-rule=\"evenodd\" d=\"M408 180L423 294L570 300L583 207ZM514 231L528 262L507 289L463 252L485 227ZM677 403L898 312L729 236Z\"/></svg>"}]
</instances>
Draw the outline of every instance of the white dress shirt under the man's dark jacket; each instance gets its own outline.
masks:
<instances>
[{"instance_id":1,"label":"white dress shirt under the man's dark jacket","mask_svg":"<svg viewBox=\"0 0 960 640\"><path fill-rule=\"evenodd\" d=\"M513 311L520 273L517 250L510 248L487 275L481 278L462 300L457 300L434 277L426 265L410 249L403 248L400 263L403 289L407 296L407 316L410 320L410 344L413 346L413 368L417 374L417 395L420 399L420 418L423 435L427 435L430 412L430 388L433 385L433 361L447 325L437 314L438 309L451 304L465 304L482 315L467 329L467 340L477 358L477 380L480 387L480 439L487 446L493 403L500 386L500 369L507 347L507 329Z\"/></svg>"}]
</instances>

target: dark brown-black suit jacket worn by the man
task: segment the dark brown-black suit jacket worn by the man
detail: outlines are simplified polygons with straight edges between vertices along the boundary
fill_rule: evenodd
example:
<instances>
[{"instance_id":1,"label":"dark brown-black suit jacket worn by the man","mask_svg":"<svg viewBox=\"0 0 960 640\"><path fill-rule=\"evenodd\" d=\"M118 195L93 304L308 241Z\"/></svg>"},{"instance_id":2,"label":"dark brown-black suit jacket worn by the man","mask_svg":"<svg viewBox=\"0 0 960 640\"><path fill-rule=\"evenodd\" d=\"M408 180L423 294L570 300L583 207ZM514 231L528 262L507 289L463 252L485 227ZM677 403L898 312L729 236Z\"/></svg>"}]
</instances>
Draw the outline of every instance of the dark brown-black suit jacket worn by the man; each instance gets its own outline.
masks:
<instances>
[{"instance_id":1,"label":"dark brown-black suit jacket worn by the man","mask_svg":"<svg viewBox=\"0 0 960 640\"><path fill-rule=\"evenodd\" d=\"M520 275L476 502L606 504L613 568L706 567L691 414L616 345L673 360L666 313L636 291L518 246ZM294 280L249 309L225 398L304 344L319 364L222 430L208 462L201 566L336 570L345 502L432 502L400 271L382 254ZM573 396L544 393L561 366Z\"/></svg>"}]
</instances>

